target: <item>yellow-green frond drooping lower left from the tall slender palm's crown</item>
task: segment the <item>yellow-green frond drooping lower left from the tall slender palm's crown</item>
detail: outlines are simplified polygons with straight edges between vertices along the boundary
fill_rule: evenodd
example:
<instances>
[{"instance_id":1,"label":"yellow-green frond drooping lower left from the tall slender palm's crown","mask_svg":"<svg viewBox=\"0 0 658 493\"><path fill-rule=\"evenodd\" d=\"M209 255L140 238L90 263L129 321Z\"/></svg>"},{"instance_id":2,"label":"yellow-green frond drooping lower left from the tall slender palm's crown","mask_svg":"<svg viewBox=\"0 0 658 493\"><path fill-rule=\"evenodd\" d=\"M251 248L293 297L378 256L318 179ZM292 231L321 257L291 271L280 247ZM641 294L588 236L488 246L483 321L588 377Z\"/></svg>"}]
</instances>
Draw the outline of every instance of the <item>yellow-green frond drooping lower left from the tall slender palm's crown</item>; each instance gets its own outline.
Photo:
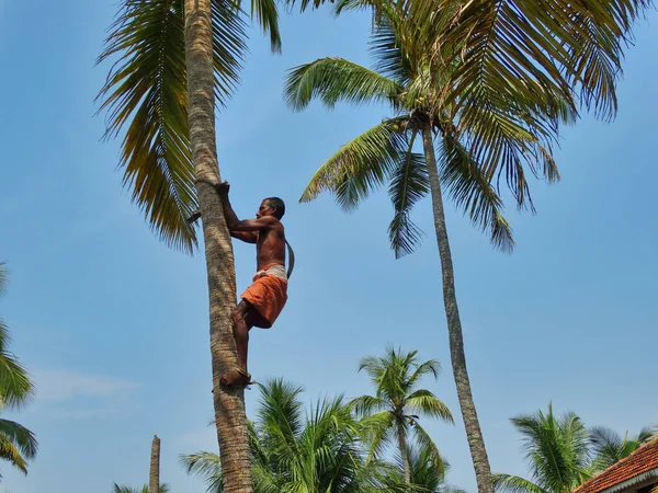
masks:
<instances>
[{"instance_id":1,"label":"yellow-green frond drooping lower left from the tall slender palm's crown","mask_svg":"<svg viewBox=\"0 0 658 493\"><path fill-rule=\"evenodd\" d=\"M385 183L407 151L405 122L405 117L386 119L342 146L311 177L300 202L329 191L343 209L356 207Z\"/></svg>"}]
</instances>

